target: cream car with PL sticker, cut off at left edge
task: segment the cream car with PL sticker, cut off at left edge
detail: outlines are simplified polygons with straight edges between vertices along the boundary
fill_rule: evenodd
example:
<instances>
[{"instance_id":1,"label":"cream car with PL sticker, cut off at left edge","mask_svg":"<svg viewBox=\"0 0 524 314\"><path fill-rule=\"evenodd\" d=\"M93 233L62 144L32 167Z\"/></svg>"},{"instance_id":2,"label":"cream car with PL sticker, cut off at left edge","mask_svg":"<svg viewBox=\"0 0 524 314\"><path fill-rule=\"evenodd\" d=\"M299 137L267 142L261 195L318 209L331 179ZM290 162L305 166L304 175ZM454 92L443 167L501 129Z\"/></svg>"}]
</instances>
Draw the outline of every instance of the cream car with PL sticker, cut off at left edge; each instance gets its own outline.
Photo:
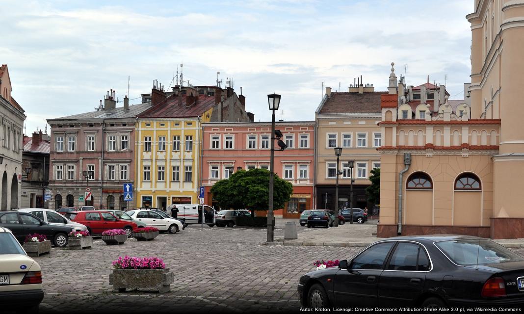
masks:
<instances>
[{"instance_id":1,"label":"cream car with PL sticker, cut off at left edge","mask_svg":"<svg viewBox=\"0 0 524 314\"><path fill-rule=\"evenodd\" d=\"M27 256L12 231L0 227L0 307L38 313L43 299L42 270Z\"/></svg>"}]
</instances>

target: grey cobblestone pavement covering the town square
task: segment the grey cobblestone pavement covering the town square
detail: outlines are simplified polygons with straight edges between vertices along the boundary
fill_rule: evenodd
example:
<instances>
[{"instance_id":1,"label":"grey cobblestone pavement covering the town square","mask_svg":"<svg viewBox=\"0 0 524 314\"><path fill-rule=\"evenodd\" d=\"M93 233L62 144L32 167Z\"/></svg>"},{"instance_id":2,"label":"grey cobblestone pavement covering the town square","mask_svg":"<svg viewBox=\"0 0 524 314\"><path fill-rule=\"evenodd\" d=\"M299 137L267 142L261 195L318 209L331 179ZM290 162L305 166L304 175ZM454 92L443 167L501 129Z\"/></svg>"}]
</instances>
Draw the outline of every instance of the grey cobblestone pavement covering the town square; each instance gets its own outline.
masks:
<instances>
[{"instance_id":1,"label":"grey cobblestone pavement covering the town square","mask_svg":"<svg viewBox=\"0 0 524 314\"><path fill-rule=\"evenodd\" d=\"M277 221L275 237L286 220ZM314 232L298 228L298 232ZM35 258L42 266L41 313L299 312L299 277L316 259L350 258L363 247L269 246L266 229L189 226L151 242L128 240L91 250L53 248ZM524 249L515 249L519 254ZM113 293L111 262L118 256L159 256L174 272L166 294Z\"/></svg>"}]
</instances>

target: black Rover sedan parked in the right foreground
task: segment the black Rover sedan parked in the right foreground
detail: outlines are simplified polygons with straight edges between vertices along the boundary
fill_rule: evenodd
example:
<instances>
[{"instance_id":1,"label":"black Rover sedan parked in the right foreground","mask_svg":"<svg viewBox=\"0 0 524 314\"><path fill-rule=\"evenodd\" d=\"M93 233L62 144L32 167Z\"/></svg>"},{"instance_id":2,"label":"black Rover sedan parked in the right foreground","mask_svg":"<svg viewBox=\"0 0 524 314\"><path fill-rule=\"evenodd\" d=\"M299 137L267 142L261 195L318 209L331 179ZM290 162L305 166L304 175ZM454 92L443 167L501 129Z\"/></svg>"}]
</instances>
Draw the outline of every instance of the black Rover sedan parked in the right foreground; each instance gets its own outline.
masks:
<instances>
[{"instance_id":1,"label":"black Rover sedan parked in the right foreground","mask_svg":"<svg viewBox=\"0 0 524 314\"><path fill-rule=\"evenodd\" d=\"M521 307L524 258L487 239L403 236L300 277L304 307Z\"/></svg>"}]
</instances>

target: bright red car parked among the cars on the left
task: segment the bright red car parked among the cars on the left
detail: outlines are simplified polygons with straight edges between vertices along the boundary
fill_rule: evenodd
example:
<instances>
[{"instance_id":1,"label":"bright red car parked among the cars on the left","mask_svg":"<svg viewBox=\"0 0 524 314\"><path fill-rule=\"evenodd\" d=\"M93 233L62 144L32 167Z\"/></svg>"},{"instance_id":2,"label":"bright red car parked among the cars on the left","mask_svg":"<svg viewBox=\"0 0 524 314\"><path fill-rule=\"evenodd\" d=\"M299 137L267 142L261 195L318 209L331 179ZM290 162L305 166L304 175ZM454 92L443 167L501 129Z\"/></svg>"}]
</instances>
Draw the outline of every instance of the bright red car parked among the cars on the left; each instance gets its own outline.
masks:
<instances>
[{"instance_id":1,"label":"bright red car parked among the cars on the left","mask_svg":"<svg viewBox=\"0 0 524 314\"><path fill-rule=\"evenodd\" d=\"M127 236L131 236L133 228L137 228L136 223L132 221L119 219L111 213L100 210L68 212L65 216L71 221L88 227L90 234L102 234L102 232L110 229L124 229Z\"/></svg>"}]
</instances>

